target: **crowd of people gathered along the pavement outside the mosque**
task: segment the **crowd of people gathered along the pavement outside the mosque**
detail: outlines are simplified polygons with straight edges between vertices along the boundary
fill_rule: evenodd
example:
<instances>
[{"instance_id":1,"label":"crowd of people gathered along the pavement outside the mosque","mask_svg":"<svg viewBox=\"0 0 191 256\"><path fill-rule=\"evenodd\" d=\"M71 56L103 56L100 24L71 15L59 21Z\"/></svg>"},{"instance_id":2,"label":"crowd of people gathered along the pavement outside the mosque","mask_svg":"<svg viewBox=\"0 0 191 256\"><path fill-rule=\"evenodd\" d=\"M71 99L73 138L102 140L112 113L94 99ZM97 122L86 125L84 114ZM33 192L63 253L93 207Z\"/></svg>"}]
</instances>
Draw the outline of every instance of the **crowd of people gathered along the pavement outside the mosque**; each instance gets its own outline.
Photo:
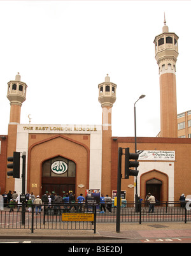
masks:
<instances>
[{"instance_id":1,"label":"crowd of people gathered along the pavement outside the mosque","mask_svg":"<svg viewBox=\"0 0 191 256\"><path fill-rule=\"evenodd\" d=\"M16 191L9 191L8 193L3 193L3 200L4 200L4 206L9 207L10 211L14 211L15 208L17 208L17 211L20 211L20 207L22 207L22 202L20 202L20 195ZM190 199L191 200L191 199ZM81 193L77 198L75 194L72 192L64 194L62 197L58 193L45 193L41 198L39 195L35 196L34 193L27 192L25 194L25 206L27 206L27 210L29 212L32 211L32 204L36 205L36 215L41 213L43 211L43 207L46 206L48 208L57 209L59 208L59 204L64 203L83 203L85 202L85 198L83 197L83 194ZM141 197L138 197L138 202L141 204L143 202L143 199ZM151 194L148 193L145 198L145 202L148 203L149 209L148 213L153 213L155 209L155 204L157 202L157 199ZM182 194L180 197L181 207L185 207L185 195ZM108 211L111 213L112 207L112 199L108 195L104 196L101 194L100 197L100 207L99 207L99 213L105 213ZM71 209L78 209L78 212L81 212L82 206L73 207L73 206L65 206L65 209L68 211L71 211Z\"/></svg>"}]
</instances>

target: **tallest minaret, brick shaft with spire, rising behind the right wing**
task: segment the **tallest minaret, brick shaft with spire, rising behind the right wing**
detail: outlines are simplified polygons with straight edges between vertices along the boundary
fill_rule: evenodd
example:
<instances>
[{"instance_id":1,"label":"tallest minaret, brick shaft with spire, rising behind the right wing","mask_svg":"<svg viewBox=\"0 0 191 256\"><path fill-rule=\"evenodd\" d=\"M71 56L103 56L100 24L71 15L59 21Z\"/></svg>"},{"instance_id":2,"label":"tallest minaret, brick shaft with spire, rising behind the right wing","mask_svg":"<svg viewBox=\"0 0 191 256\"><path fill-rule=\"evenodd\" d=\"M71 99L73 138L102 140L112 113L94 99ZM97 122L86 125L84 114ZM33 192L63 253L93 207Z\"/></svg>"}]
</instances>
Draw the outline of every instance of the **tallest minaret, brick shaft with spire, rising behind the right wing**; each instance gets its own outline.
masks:
<instances>
[{"instance_id":1,"label":"tallest minaret, brick shaft with spire, rising behind the right wing","mask_svg":"<svg viewBox=\"0 0 191 256\"><path fill-rule=\"evenodd\" d=\"M160 137L178 137L176 104L176 61L178 36L164 26L162 34L155 37L155 59L160 77Z\"/></svg>"}]
</instances>

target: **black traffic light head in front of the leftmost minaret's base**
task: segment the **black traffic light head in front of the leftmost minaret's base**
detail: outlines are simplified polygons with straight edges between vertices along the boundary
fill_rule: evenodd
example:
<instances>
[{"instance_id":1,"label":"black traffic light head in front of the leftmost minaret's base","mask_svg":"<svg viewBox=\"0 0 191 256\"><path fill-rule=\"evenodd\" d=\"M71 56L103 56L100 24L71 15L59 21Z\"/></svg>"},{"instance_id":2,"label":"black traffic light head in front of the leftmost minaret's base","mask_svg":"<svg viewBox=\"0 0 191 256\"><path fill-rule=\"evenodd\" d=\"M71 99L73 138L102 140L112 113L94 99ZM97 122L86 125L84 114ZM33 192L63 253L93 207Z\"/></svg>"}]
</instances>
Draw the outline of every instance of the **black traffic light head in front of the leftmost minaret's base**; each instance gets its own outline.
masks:
<instances>
[{"instance_id":1,"label":"black traffic light head in front of the leftmost minaret's base","mask_svg":"<svg viewBox=\"0 0 191 256\"><path fill-rule=\"evenodd\" d=\"M8 169L13 169L7 172L7 175L20 178L20 152L13 152L13 156L8 157L7 160L13 162L7 165Z\"/></svg>"}]
</instances>

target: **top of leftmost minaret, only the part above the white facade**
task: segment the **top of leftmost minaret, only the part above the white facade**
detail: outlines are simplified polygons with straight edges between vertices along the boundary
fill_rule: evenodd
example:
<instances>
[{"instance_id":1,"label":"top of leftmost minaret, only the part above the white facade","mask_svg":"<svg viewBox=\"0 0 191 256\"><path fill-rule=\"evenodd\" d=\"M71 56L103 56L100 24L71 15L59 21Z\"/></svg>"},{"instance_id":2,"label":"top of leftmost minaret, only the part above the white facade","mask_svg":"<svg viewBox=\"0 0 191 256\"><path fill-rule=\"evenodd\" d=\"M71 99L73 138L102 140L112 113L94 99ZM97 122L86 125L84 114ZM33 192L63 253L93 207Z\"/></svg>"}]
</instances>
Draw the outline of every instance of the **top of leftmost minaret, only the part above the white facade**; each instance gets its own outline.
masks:
<instances>
[{"instance_id":1,"label":"top of leftmost minaret, only the part above the white facade","mask_svg":"<svg viewBox=\"0 0 191 256\"><path fill-rule=\"evenodd\" d=\"M10 123L20 123L20 110L22 103L26 100L27 85L20 81L17 73L15 80L8 82L7 98L10 100Z\"/></svg>"}]
</instances>

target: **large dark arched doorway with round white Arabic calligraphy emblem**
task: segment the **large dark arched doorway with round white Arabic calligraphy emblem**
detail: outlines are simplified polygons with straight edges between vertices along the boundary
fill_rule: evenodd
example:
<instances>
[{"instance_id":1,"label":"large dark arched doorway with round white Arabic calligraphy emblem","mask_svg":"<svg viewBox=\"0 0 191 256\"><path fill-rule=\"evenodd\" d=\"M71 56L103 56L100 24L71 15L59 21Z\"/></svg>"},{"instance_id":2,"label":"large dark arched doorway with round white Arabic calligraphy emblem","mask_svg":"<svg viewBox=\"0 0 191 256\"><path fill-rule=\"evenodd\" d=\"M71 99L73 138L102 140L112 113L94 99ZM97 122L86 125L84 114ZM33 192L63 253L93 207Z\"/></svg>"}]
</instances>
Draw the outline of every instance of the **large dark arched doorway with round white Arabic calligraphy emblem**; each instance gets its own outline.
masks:
<instances>
[{"instance_id":1,"label":"large dark arched doorway with round white Arabic calligraphy emblem","mask_svg":"<svg viewBox=\"0 0 191 256\"><path fill-rule=\"evenodd\" d=\"M42 193L58 193L64 195L72 191L75 193L76 164L62 156L57 156L43 162Z\"/></svg>"}]
</instances>

